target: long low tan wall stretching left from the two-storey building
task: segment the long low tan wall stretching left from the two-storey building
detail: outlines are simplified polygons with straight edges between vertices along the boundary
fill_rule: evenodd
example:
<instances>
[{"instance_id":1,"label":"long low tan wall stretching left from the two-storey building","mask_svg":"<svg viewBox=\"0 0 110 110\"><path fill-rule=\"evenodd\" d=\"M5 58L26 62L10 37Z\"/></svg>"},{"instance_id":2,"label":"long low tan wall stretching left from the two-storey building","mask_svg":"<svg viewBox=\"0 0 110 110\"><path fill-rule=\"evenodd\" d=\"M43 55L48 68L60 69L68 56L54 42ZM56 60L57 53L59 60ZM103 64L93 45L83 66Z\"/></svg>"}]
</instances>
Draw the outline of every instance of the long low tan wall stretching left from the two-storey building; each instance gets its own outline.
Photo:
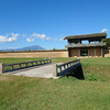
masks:
<instances>
[{"instance_id":1,"label":"long low tan wall stretching left from the two-storey building","mask_svg":"<svg viewBox=\"0 0 110 110\"><path fill-rule=\"evenodd\" d=\"M68 57L67 51L3 52L0 57Z\"/></svg>"}]
</instances>

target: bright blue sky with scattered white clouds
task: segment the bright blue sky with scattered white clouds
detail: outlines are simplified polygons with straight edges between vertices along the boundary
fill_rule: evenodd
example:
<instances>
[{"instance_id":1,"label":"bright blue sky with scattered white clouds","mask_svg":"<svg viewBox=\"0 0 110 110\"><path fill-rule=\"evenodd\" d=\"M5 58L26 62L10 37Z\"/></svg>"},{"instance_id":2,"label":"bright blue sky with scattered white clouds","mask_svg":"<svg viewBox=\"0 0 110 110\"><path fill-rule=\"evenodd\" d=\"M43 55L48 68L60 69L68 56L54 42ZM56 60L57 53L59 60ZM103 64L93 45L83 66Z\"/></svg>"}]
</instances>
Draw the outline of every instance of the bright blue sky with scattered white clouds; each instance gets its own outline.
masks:
<instances>
[{"instance_id":1,"label":"bright blue sky with scattered white clouds","mask_svg":"<svg viewBox=\"0 0 110 110\"><path fill-rule=\"evenodd\" d=\"M0 0L0 50L65 48L67 35L107 32L110 0Z\"/></svg>"}]
</instances>

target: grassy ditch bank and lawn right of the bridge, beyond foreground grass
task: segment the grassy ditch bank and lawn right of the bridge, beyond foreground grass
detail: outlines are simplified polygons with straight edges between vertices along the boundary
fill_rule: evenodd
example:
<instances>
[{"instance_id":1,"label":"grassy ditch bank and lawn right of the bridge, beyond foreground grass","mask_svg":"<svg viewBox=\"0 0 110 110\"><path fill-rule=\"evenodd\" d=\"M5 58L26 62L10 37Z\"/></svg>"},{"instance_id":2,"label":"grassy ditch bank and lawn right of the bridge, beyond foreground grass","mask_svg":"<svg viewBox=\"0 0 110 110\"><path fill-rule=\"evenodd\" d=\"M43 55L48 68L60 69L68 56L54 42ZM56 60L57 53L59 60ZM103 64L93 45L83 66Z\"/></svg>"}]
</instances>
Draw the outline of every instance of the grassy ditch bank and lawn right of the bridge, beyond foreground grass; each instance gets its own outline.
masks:
<instances>
[{"instance_id":1,"label":"grassy ditch bank and lawn right of the bridge, beyond foreground grass","mask_svg":"<svg viewBox=\"0 0 110 110\"><path fill-rule=\"evenodd\" d=\"M87 80L110 81L110 57L82 58L81 65Z\"/></svg>"}]
</instances>

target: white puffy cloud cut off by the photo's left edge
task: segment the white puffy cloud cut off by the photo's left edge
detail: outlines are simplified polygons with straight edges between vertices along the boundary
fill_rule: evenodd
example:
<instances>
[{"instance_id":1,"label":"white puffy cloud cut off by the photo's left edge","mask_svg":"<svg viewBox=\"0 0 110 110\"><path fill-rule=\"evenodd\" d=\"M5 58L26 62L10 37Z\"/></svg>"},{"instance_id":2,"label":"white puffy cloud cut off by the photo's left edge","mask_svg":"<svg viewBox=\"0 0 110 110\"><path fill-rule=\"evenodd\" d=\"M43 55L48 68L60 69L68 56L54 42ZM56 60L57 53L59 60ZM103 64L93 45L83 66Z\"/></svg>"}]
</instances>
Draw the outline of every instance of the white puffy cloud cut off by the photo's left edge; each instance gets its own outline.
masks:
<instances>
[{"instance_id":1,"label":"white puffy cloud cut off by the photo's left edge","mask_svg":"<svg viewBox=\"0 0 110 110\"><path fill-rule=\"evenodd\" d=\"M14 33L11 33L11 36L8 37L9 35L0 35L0 42L1 43L7 43L7 42L14 42L18 40L18 35L19 34L14 34Z\"/></svg>"}]
</instances>

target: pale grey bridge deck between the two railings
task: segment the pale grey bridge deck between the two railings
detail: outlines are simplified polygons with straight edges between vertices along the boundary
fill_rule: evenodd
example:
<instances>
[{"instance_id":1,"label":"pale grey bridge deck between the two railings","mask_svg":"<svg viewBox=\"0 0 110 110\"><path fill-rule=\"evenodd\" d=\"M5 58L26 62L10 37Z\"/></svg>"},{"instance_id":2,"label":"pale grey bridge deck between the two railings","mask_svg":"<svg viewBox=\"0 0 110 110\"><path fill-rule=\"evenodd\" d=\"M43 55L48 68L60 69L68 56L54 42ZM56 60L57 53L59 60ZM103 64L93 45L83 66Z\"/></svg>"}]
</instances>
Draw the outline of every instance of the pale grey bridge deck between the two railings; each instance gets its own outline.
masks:
<instances>
[{"instance_id":1,"label":"pale grey bridge deck between the two railings","mask_svg":"<svg viewBox=\"0 0 110 110\"><path fill-rule=\"evenodd\" d=\"M58 63L58 64L62 64L62 63ZM6 75L52 78L53 64L30 67L30 68L15 70L15 72L9 72L9 73L6 73Z\"/></svg>"}]
</instances>

